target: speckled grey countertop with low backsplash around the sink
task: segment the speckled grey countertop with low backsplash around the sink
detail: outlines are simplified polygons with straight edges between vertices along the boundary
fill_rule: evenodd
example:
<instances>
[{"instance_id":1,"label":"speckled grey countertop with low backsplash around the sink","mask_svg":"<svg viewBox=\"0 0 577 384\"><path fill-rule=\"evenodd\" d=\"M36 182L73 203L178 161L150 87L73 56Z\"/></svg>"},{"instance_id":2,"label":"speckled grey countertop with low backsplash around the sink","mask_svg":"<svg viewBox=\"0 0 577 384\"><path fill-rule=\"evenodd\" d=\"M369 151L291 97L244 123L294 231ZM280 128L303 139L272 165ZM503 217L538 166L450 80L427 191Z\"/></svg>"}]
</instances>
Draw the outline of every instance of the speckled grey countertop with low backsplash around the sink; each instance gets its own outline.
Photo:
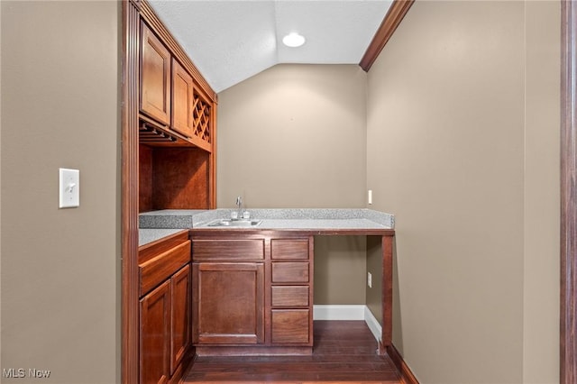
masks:
<instances>
[{"instance_id":1,"label":"speckled grey countertop with low backsplash around the sink","mask_svg":"<svg viewBox=\"0 0 577 384\"><path fill-rule=\"evenodd\" d=\"M139 245L160 239L182 229L210 228L211 230L239 230L247 227L208 227L207 224L231 217L235 209L173 210L147 212L140 215ZM261 224L252 230L311 230L358 231L392 230L395 217L366 208L286 208L248 209L252 220ZM169 232L173 230L173 232ZM156 237L161 236L161 237Z\"/></svg>"}]
</instances>

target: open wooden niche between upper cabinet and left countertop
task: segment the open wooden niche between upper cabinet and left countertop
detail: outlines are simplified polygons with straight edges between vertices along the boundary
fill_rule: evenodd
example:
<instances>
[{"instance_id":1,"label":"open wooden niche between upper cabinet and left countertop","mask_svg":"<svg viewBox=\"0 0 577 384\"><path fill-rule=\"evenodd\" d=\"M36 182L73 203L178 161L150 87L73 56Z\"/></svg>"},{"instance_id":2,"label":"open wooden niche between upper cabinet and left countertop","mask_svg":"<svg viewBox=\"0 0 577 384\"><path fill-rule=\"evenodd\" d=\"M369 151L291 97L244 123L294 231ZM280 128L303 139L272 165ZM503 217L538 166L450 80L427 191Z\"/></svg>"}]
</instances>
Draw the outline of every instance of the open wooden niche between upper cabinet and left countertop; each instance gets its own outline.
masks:
<instances>
[{"instance_id":1,"label":"open wooden niche between upper cabinet and left countertop","mask_svg":"<svg viewBox=\"0 0 577 384\"><path fill-rule=\"evenodd\" d=\"M139 212L208 209L211 154L195 147L139 146Z\"/></svg>"}]
</instances>

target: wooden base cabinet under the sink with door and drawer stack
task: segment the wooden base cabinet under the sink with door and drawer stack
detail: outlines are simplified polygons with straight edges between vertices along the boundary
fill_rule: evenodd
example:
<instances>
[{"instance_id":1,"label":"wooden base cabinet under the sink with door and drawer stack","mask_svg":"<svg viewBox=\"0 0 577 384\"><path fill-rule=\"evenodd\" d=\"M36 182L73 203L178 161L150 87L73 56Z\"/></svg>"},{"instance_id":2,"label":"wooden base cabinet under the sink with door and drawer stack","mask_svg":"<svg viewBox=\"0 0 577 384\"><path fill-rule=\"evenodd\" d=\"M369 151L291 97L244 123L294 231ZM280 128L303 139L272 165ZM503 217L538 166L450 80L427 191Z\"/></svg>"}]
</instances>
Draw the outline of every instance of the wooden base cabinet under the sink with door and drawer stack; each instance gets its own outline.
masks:
<instances>
[{"instance_id":1,"label":"wooden base cabinet under the sink with door and drawer stack","mask_svg":"<svg viewBox=\"0 0 577 384\"><path fill-rule=\"evenodd\" d=\"M193 230L191 239L199 354L312 352L312 236Z\"/></svg>"}]
</instances>

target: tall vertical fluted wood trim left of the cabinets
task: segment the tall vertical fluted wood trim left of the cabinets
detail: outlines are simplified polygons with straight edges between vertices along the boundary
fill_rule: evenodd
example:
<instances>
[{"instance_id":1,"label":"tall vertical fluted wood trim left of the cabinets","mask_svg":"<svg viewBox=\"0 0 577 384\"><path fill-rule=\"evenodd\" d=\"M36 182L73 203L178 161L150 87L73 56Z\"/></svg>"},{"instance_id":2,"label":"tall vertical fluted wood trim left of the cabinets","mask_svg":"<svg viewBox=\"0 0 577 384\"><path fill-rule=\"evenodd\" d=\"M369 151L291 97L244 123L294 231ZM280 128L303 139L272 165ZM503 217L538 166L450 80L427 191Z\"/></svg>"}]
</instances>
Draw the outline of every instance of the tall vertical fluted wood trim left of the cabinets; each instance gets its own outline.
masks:
<instances>
[{"instance_id":1,"label":"tall vertical fluted wood trim left of the cabinets","mask_svg":"<svg viewBox=\"0 0 577 384\"><path fill-rule=\"evenodd\" d=\"M122 2L122 356L123 383L139 378L138 301L138 59L140 14L137 3Z\"/></svg>"}]
</instances>

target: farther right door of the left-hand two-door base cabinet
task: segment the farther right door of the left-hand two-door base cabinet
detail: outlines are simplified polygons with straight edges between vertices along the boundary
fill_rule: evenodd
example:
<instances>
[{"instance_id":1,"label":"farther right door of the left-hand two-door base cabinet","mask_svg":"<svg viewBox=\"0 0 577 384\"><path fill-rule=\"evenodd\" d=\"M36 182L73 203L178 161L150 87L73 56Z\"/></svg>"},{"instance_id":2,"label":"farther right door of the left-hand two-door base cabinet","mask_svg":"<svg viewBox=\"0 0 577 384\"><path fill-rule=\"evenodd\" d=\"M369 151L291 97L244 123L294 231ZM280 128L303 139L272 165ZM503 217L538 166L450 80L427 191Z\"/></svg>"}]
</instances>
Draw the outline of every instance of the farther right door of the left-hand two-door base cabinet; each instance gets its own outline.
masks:
<instances>
[{"instance_id":1,"label":"farther right door of the left-hand two-door base cabinet","mask_svg":"<svg viewBox=\"0 0 577 384\"><path fill-rule=\"evenodd\" d=\"M170 279L171 327L170 374L179 366L190 345L190 266L179 270Z\"/></svg>"}]
</instances>

